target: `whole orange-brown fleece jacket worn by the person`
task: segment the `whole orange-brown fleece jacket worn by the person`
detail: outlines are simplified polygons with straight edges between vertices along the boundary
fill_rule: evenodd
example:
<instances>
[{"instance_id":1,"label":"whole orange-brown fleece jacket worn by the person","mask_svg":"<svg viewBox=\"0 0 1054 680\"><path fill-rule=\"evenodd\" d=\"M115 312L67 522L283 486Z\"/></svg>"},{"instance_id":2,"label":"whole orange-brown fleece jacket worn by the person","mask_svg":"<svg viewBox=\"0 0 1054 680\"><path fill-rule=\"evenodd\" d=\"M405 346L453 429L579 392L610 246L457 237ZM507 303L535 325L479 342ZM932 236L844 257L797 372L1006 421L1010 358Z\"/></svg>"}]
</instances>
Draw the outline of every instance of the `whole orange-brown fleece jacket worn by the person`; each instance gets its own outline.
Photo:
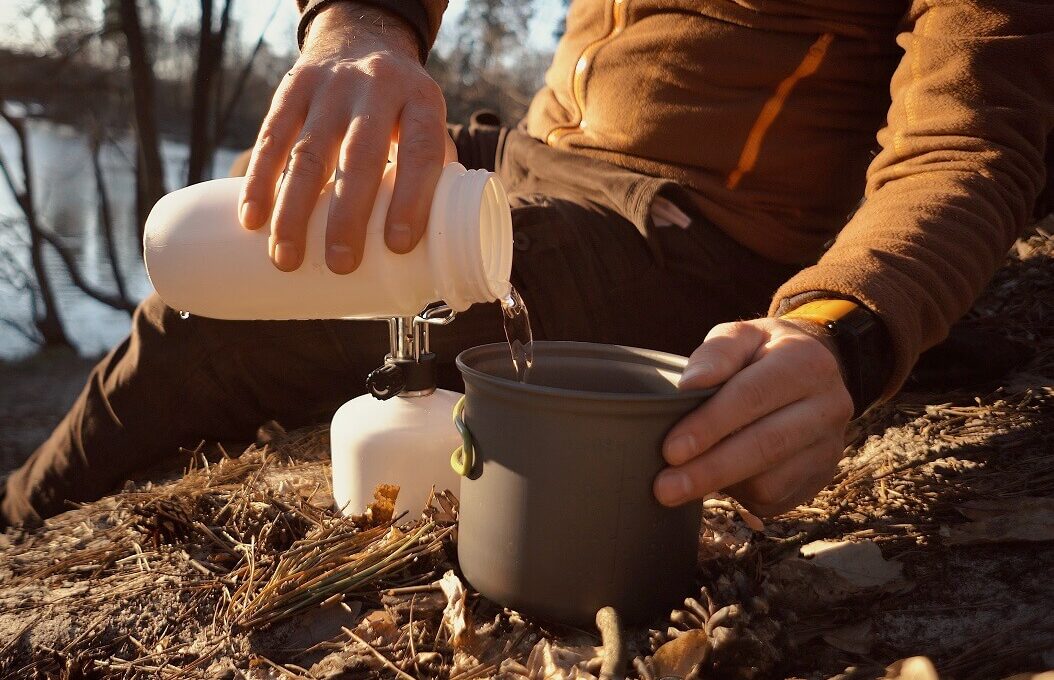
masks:
<instances>
[{"instance_id":1,"label":"whole orange-brown fleece jacket worn by the person","mask_svg":"<svg viewBox=\"0 0 1054 680\"><path fill-rule=\"evenodd\" d=\"M425 48L446 8L369 4ZM811 265L772 313L813 291L866 305L893 342L889 395L1043 186L1054 0L575 0L526 125L675 179L740 242Z\"/></svg>"}]
</instances>

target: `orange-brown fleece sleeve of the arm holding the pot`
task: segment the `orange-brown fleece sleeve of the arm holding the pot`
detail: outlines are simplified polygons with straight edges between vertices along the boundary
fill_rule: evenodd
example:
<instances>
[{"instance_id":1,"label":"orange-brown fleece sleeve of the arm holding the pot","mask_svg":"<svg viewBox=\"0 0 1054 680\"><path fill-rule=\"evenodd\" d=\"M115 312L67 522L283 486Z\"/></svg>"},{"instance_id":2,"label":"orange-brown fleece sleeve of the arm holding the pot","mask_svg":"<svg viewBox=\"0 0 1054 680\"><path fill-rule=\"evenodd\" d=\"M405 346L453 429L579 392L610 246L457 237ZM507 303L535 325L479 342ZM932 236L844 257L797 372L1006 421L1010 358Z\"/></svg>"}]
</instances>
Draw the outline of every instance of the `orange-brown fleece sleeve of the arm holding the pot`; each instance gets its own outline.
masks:
<instances>
[{"instance_id":1,"label":"orange-brown fleece sleeve of the arm holding the pot","mask_svg":"<svg viewBox=\"0 0 1054 680\"><path fill-rule=\"evenodd\" d=\"M905 21L864 201L770 310L815 291L868 307L893 345L883 396L1002 263L1043 187L1054 129L1054 2L913 0Z\"/></svg>"}]
</instances>

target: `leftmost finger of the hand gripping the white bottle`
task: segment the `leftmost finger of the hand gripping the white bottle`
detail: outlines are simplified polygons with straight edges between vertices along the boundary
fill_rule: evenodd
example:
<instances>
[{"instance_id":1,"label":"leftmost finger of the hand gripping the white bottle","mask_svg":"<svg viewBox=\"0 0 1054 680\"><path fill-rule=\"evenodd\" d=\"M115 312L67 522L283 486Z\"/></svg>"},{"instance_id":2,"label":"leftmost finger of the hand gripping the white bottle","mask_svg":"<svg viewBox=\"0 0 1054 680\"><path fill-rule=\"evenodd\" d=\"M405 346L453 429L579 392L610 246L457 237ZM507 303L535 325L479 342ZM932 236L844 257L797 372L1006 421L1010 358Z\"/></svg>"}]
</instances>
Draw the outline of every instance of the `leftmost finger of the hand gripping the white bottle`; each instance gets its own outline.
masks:
<instances>
[{"instance_id":1,"label":"leftmost finger of the hand gripping the white bottle","mask_svg":"<svg viewBox=\"0 0 1054 680\"><path fill-rule=\"evenodd\" d=\"M238 218L246 229L259 229L271 215L275 186L286 169L310 105L310 97L300 94L302 88L301 80L295 76L284 80L260 125L238 201Z\"/></svg>"}]
</instances>

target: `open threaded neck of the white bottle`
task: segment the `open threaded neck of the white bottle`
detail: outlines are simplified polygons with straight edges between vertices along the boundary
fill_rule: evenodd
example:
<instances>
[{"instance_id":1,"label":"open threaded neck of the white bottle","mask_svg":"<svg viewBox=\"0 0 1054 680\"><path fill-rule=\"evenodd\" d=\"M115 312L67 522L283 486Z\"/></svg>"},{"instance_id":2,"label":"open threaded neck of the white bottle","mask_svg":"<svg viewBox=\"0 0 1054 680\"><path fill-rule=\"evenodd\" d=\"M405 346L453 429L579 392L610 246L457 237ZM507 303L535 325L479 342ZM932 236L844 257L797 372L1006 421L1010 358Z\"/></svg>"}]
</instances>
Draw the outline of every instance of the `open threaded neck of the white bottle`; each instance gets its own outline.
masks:
<instances>
[{"instance_id":1,"label":"open threaded neck of the white bottle","mask_svg":"<svg viewBox=\"0 0 1054 680\"><path fill-rule=\"evenodd\" d=\"M436 291L454 311L508 294L512 217L496 175L450 164L436 188L429 225Z\"/></svg>"}]
</instances>

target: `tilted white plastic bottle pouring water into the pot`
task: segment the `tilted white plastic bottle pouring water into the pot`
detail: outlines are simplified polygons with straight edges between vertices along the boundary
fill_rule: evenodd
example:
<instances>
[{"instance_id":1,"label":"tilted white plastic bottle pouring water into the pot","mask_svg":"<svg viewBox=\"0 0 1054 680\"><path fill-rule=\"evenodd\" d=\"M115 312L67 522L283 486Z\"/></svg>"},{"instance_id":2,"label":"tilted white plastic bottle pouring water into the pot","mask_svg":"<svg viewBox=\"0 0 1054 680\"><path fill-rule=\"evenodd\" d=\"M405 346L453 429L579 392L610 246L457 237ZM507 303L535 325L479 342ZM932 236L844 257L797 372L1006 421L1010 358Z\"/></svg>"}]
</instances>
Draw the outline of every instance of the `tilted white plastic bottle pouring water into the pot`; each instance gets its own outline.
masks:
<instances>
[{"instance_id":1,"label":"tilted white plastic bottle pouring water into the pot","mask_svg":"<svg viewBox=\"0 0 1054 680\"><path fill-rule=\"evenodd\" d=\"M394 179L390 163L373 203L362 263L350 274L334 274L326 266L332 182L308 221L304 264L282 272L268 256L270 224L250 231L238 221L241 177L193 184L157 201L143 235L147 272L169 307L225 319L412 316L438 300L464 311L507 295L512 222L496 176L456 162L444 168L428 229L407 254L385 245Z\"/></svg>"}]
</instances>

